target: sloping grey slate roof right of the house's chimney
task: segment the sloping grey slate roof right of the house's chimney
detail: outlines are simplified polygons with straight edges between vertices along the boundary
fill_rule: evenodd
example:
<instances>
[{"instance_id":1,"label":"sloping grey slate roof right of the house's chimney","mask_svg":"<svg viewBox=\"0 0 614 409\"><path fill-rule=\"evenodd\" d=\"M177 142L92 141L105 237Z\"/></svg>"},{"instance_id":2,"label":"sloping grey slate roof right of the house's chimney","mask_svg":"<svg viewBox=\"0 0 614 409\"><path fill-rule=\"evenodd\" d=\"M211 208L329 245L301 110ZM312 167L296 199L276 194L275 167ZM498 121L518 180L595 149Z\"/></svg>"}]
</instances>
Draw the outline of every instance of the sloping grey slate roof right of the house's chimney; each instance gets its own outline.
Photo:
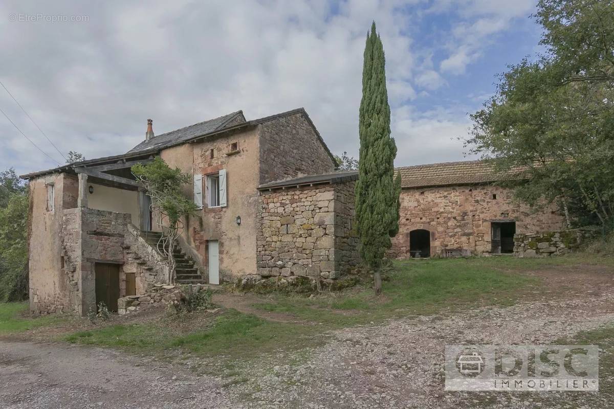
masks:
<instances>
[{"instance_id":1,"label":"sloping grey slate roof right of the house's chimney","mask_svg":"<svg viewBox=\"0 0 614 409\"><path fill-rule=\"evenodd\" d=\"M166 132L166 134L156 135L150 140L144 140L128 151L128 153L136 153L152 149L163 149L171 145L190 140L194 137L210 134L211 132L220 131L238 123L244 123L243 111L228 113L222 117L213 118L212 120L199 122L185 128L177 129L176 131Z\"/></svg>"}]
</instances>

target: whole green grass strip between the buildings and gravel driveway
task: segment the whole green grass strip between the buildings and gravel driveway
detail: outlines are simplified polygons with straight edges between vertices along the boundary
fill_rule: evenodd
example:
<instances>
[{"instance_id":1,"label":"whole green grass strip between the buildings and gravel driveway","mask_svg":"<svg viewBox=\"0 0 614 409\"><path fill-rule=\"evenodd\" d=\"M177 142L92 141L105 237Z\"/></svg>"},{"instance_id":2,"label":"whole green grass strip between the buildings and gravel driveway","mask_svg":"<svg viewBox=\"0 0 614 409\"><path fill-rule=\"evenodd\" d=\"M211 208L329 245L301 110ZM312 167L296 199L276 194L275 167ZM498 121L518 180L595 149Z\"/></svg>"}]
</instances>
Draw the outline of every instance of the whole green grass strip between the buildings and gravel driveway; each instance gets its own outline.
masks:
<instances>
[{"instance_id":1,"label":"whole green grass strip between the buildings and gravel driveway","mask_svg":"<svg viewBox=\"0 0 614 409\"><path fill-rule=\"evenodd\" d=\"M270 321L225 310L211 319L196 320L197 324L184 332L163 323L114 325L77 332L64 339L138 352L189 351L198 356L246 359L322 345L325 332L339 327L449 313L476 305L510 305L542 286L538 278L518 271L574 262L512 257L395 262L383 283L382 298L375 297L371 288L357 287L313 298L273 293L254 305L266 312L292 315L300 323Z\"/></svg>"}]
</instances>

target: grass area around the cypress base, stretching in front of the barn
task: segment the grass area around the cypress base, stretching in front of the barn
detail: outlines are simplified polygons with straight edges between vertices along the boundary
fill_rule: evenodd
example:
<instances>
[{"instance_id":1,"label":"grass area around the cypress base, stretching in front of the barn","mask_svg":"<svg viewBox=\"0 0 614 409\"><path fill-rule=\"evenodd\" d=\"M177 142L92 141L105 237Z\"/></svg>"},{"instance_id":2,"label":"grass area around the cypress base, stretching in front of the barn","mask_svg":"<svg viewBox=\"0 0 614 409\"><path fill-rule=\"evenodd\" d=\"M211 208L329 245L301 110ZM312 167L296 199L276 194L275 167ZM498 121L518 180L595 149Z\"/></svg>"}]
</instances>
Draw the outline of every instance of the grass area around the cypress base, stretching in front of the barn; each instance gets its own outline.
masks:
<instances>
[{"instance_id":1,"label":"grass area around the cypress base, stretching in front of the barn","mask_svg":"<svg viewBox=\"0 0 614 409\"><path fill-rule=\"evenodd\" d=\"M505 271L529 263L514 258L500 258L496 262L479 258L398 261L383 283L383 299L375 297L371 288L360 288L316 299L271 294L272 302L254 307L291 313L318 323L349 326L408 314L436 313L441 308L510 305L523 291L540 286L537 278ZM542 264L541 260L538 264Z\"/></svg>"}]
</instances>

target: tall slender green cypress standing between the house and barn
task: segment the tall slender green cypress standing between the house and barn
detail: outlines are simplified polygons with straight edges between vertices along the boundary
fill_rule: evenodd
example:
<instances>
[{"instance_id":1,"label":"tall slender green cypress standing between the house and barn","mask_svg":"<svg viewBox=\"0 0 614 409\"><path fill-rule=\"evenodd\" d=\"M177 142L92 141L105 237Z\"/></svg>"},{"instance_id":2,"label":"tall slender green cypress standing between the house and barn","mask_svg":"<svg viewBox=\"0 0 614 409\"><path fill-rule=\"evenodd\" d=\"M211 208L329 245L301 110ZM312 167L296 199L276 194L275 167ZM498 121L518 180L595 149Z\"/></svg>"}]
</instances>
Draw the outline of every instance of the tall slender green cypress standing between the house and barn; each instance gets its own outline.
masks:
<instances>
[{"instance_id":1,"label":"tall slender green cypress standing between the house and barn","mask_svg":"<svg viewBox=\"0 0 614 409\"><path fill-rule=\"evenodd\" d=\"M391 138L390 106L386 90L384 47L375 31L367 34L360 101L359 180L356 183L356 219L360 256L373 270L375 293L381 294L381 265L398 232L400 177L394 177L397 145Z\"/></svg>"}]
</instances>

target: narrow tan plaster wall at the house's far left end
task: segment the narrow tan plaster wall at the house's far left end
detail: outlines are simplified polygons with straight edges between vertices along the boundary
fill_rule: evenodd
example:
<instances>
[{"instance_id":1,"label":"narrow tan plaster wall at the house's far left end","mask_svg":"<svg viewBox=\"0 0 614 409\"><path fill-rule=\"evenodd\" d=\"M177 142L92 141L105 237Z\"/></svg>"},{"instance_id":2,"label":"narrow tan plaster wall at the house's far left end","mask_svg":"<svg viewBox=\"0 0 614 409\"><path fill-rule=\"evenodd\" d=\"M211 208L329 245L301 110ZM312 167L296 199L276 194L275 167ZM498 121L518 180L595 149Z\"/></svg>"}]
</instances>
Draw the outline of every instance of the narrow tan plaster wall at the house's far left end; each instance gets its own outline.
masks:
<instances>
[{"instance_id":1,"label":"narrow tan plaster wall at the house's far left end","mask_svg":"<svg viewBox=\"0 0 614 409\"><path fill-rule=\"evenodd\" d=\"M54 183L53 211L47 210L47 184ZM61 270L60 226L63 209L77 205L76 179L52 174L29 183L29 299L33 312L70 310L70 285ZM78 187L77 187L78 191Z\"/></svg>"}]
</instances>

